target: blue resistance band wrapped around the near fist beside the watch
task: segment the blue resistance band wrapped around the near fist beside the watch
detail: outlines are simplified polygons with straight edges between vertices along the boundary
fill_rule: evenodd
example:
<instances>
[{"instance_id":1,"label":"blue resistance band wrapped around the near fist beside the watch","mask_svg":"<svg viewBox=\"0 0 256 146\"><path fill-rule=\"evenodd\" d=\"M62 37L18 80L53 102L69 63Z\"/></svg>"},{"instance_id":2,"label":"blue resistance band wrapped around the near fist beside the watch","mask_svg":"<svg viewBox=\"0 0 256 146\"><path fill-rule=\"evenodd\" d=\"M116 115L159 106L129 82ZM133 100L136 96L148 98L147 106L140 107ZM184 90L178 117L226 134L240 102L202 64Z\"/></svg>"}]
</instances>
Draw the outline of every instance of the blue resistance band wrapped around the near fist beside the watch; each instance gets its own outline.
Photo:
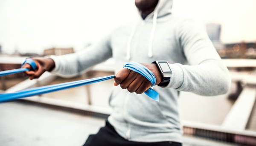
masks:
<instances>
[{"instance_id":1,"label":"blue resistance band wrapped around the near fist beside the watch","mask_svg":"<svg viewBox=\"0 0 256 146\"><path fill-rule=\"evenodd\" d=\"M142 75L145 76L145 78L149 79L152 85L155 84L156 79L154 77L154 74L150 70L148 70L145 66L140 65L137 62L130 62L126 64L124 67L125 68L129 67L128 69L132 68L131 70L133 71L136 70L137 73L141 73L141 74L144 73ZM16 98L24 98L29 96L41 95L41 94L50 93L50 92L59 91L59 90L65 90L73 87L79 87L86 84L105 81L108 79L112 79L114 77L115 75L104 76L104 77L93 78L93 79L85 79L80 81L71 81L71 82L61 83L61 84L53 84L53 85L47 85L42 87L28 88L25 90L14 92L14 93L3 93L3 94L0 94L0 102L9 101ZM159 94L155 90L149 88L147 91L145 91L145 94L151 97L152 99L154 99L155 101L159 101Z\"/></svg>"}]
</instances>

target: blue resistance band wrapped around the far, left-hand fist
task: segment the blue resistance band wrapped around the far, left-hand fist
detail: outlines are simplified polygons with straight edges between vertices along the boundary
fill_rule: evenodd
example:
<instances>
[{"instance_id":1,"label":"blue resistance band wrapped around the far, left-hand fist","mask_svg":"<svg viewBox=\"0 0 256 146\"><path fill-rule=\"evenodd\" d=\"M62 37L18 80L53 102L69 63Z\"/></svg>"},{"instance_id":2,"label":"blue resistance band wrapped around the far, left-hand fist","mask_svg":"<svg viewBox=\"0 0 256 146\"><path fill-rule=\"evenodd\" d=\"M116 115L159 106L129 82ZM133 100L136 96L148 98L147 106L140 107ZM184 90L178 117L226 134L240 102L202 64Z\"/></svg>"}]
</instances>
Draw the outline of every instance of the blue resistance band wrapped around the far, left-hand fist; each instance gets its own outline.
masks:
<instances>
[{"instance_id":1,"label":"blue resistance band wrapped around the far, left-hand fist","mask_svg":"<svg viewBox=\"0 0 256 146\"><path fill-rule=\"evenodd\" d=\"M23 66L25 63L29 64L33 68L33 70L36 69L36 63L34 62L33 59L27 58L21 66ZM13 73L21 73L21 72L25 72L28 70L29 70L28 68L19 68L19 69L14 69L14 70L1 71L0 76L6 76L9 74L13 74Z\"/></svg>"}]
</instances>

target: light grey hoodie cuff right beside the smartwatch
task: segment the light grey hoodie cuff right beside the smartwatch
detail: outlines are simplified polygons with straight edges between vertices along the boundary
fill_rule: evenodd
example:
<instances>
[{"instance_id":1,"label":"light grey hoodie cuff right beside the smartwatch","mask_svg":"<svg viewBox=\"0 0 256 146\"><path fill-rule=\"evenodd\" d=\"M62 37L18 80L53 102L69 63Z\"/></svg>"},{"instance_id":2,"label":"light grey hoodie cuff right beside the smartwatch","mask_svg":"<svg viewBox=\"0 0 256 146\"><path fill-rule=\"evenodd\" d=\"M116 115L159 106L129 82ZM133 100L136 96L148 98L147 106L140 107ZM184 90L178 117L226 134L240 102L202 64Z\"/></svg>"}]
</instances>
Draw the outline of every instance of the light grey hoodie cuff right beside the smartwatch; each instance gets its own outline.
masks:
<instances>
[{"instance_id":1,"label":"light grey hoodie cuff right beside the smartwatch","mask_svg":"<svg viewBox=\"0 0 256 146\"><path fill-rule=\"evenodd\" d=\"M184 81L184 74L183 71L180 67L180 64L175 63L175 64L169 64L170 68L172 69L172 77L169 82L169 84L163 88L173 88L177 89L181 87Z\"/></svg>"}]
</instances>

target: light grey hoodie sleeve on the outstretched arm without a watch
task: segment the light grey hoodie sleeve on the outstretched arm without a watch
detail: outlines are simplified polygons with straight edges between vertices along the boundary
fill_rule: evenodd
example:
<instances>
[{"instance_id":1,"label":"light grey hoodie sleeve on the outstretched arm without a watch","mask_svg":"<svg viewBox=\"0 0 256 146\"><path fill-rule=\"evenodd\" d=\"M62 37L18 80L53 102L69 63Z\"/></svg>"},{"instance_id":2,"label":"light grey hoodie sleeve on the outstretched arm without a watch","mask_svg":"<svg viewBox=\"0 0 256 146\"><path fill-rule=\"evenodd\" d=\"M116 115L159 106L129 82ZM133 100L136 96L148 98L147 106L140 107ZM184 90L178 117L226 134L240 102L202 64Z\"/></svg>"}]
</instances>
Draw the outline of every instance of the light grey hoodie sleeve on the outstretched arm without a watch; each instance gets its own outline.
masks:
<instances>
[{"instance_id":1,"label":"light grey hoodie sleeve on the outstretched arm without a watch","mask_svg":"<svg viewBox=\"0 0 256 146\"><path fill-rule=\"evenodd\" d=\"M86 49L76 53L48 56L55 62L55 68L52 73L57 73L63 77L77 76L93 65L104 62L112 57L111 35L102 38L96 45L92 45Z\"/></svg>"}]
</instances>

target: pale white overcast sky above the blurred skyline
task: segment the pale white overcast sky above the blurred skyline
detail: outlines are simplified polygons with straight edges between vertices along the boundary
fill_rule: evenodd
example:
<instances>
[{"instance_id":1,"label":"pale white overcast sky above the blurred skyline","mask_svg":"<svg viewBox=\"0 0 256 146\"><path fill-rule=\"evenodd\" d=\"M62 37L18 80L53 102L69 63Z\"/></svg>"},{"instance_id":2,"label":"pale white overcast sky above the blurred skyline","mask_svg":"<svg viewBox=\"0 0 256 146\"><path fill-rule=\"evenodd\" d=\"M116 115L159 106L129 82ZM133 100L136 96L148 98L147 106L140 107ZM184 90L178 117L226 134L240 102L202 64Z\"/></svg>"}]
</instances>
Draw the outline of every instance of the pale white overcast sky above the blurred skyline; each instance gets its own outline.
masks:
<instances>
[{"instance_id":1,"label":"pale white overcast sky above the blurred skyline","mask_svg":"<svg viewBox=\"0 0 256 146\"><path fill-rule=\"evenodd\" d=\"M222 25L221 41L256 42L256 0L174 0L173 14L205 27ZM3 52L81 50L120 23L134 20L134 0L0 0Z\"/></svg>"}]
</instances>

